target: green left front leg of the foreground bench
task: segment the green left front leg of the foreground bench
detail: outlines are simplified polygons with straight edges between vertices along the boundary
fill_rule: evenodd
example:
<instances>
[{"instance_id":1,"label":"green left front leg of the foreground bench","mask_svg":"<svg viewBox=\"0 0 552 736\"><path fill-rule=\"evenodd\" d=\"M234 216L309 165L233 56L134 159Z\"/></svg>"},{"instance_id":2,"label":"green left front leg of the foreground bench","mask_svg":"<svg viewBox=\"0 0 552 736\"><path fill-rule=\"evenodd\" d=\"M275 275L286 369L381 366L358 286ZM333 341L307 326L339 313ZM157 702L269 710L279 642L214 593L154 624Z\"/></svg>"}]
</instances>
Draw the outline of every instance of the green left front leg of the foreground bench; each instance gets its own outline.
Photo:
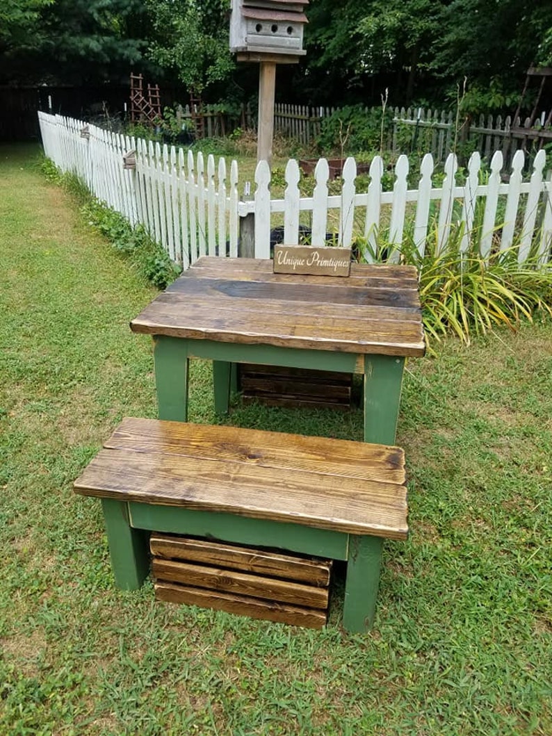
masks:
<instances>
[{"instance_id":1,"label":"green left front leg of the foreground bench","mask_svg":"<svg viewBox=\"0 0 552 736\"><path fill-rule=\"evenodd\" d=\"M111 567L118 588L136 590L149 573L147 533L129 524L127 503L102 498Z\"/></svg>"}]
</instances>

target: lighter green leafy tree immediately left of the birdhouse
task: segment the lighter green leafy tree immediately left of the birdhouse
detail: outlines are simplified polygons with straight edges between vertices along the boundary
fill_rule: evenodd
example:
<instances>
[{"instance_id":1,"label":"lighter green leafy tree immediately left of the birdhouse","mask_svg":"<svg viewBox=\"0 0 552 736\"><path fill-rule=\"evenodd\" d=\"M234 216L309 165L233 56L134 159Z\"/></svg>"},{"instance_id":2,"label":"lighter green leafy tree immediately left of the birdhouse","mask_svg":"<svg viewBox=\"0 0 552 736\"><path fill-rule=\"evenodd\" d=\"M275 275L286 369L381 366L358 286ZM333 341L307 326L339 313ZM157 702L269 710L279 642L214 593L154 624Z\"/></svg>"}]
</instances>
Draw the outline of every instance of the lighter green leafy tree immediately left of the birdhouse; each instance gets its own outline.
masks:
<instances>
[{"instance_id":1,"label":"lighter green leafy tree immediately left of the birdhouse","mask_svg":"<svg viewBox=\"0 0 552 736\"><path fill-rule=\"evenodd\" d=\"M230 77L230 0L148 0L147 5L155 30L151 60L198 94Z\"/></svg>"}]
</instances>

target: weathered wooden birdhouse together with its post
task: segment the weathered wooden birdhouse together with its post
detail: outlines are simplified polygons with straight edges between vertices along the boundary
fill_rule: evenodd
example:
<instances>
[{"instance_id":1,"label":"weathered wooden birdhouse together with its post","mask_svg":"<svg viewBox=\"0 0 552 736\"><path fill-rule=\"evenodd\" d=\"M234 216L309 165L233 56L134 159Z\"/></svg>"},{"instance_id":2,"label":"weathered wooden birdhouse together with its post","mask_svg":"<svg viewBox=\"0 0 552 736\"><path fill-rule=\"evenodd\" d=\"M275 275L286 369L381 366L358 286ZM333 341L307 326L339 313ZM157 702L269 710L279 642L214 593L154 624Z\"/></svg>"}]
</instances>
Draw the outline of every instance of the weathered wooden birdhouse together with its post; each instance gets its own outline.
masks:
<instances>
[{"instance_id":1,"label":"weathered wooden birdhouse together with its post","mask_svg":"<svg viewBox=\"0 0 552 736\"><path fill-rule=\"evenodd\" d=\"M293 64L302 48L308 0L232 0L230 51L260 64L257 160L272 160L276 65Z\"/></svg>"}]
</instances>

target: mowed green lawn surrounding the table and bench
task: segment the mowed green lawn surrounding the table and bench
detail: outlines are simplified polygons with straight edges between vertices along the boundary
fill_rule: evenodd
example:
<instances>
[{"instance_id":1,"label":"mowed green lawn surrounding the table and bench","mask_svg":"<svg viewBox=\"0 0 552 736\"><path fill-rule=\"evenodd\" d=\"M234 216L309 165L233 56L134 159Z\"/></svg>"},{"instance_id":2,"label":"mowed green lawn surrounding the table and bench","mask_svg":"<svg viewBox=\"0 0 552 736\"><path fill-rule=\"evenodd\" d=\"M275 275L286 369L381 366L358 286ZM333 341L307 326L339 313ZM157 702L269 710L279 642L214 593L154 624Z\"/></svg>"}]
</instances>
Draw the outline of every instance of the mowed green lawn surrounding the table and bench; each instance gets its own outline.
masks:
<instances>
[{"instance_id":1,"label":"mowed green lawn surrounding the table and bench","mask_svg":"<svg viewBox=\"0 0 552 736\"><path fill-rule=\"evenodd\" d=\"M552 323L410 361L397 442L411 537L384 549L374 629L309 631L113 585L71 484L124 415L155 416L155 292L0 148L0 733L552 733ZM191 420L216 422L194 363ZM361 437L358 411L237 403L225 420Z\"/></svg>"}]
</instances>

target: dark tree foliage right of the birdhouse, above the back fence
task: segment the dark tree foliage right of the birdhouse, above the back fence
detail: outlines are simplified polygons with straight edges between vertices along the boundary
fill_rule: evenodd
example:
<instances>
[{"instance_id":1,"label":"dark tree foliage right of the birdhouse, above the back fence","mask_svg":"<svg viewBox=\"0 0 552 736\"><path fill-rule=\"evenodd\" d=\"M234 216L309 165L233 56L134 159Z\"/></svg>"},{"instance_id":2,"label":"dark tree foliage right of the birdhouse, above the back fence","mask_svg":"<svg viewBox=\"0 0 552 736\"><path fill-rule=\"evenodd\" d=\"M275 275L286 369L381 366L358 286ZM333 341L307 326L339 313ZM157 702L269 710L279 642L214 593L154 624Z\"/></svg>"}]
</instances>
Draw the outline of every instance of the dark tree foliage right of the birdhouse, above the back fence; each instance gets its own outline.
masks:
<instances>
[{"instance_id":1,"label":"dark tree foliage right of the birdhouse, above the back fence","mask_svg":"<svg viewBox=\"0 0 552 736\"><path fill-rule=\"evenodd\" d=\"M550 0L314 0L308 18L305 82L321 102L373 103L389 87L395 104L431 104L467 77L495 107L519 96L528 66L552 65Z\"/></svg>"}]
</instances>

